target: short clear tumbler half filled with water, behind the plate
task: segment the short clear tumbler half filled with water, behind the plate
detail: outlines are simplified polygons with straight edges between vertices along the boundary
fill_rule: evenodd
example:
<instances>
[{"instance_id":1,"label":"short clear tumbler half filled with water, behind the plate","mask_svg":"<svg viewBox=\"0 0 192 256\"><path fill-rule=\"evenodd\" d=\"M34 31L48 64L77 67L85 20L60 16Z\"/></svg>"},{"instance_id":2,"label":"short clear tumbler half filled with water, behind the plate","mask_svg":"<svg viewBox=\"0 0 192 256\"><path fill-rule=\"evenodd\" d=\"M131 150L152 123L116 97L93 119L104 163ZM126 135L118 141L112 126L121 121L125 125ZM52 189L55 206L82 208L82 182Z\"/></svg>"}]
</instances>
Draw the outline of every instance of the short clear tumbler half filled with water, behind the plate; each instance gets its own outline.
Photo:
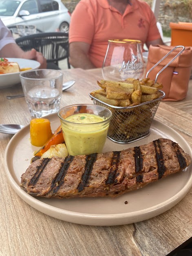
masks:
<instances>
[{"instance_id":1,"label":"short clear tumbler half filled with water, behind the plate","mask_svg":"<svg viewBox=\"0 0 192 256\"><path fill-rule=\"evenodd\" d=\"M22 72L20 79L32 117L40 118L58 112L62 97L62 72L37 69Z\"/></svg>"}]
</instances>

